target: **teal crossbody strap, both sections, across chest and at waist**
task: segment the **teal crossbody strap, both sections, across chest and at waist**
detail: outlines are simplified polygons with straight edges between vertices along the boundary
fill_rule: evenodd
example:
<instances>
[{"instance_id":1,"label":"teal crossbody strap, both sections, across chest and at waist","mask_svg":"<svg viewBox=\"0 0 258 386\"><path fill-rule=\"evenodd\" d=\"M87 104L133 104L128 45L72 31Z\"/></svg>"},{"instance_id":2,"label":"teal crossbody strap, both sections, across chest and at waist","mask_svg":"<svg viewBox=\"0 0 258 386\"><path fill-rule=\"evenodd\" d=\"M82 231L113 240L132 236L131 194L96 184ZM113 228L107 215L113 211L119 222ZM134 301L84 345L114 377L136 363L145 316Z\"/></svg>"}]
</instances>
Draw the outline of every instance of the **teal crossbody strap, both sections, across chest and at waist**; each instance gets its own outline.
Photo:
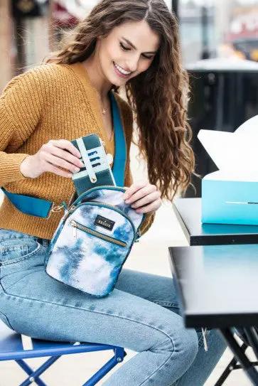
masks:
<instances>
[{"instance_id":1,"label":"teal crossbody strap, both sections, across chest and at waist","mask_svg":"<svg viewBox=\"0 0 258 386\"><path fill-rule=\"evenodd\" d=\"M119 114L119 108L112 92L110 99L112 103L112 114L114 121L114 146L115 156L113 163L113 174L117 186L124 186L124 173L127 161L127 142L124 137L122 119ZM43 200L42 198L32 197L31 195L22 195L6 191L1 188L4 194L9 198L11 203L26 215L33 215L41 218L48 218L52 211L59 211L60 207L53 208L53 202Z\"/></svg>"}]
</instances>

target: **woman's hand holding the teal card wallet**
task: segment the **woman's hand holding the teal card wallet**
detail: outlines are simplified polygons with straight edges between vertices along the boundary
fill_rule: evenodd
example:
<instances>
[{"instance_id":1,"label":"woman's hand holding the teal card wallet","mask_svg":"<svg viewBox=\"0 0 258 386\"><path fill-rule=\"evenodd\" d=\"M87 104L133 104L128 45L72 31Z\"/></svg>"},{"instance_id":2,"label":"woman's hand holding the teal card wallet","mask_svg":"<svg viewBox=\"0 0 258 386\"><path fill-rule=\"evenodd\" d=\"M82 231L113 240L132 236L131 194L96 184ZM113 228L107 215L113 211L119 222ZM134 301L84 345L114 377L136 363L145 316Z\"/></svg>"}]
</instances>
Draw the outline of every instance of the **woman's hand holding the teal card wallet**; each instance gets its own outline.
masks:
<instances>
[{"instance_id":1,"label":"woman's hand holding the teal card wallet","mask_svg":"<svg viewBox=\"0 0 258 386\"><path fill-rule=\"evenodd\" d=\"M47 144L43 144L36 154L23 159L20 170L23 176L29 178L41 176L45 171L71 178L72 173L79 171L83 166L80 157L80 151L70 141L66 139L50 140ZM70 172L60 168L65 168Z\"/></svg>"}]
</instances>

